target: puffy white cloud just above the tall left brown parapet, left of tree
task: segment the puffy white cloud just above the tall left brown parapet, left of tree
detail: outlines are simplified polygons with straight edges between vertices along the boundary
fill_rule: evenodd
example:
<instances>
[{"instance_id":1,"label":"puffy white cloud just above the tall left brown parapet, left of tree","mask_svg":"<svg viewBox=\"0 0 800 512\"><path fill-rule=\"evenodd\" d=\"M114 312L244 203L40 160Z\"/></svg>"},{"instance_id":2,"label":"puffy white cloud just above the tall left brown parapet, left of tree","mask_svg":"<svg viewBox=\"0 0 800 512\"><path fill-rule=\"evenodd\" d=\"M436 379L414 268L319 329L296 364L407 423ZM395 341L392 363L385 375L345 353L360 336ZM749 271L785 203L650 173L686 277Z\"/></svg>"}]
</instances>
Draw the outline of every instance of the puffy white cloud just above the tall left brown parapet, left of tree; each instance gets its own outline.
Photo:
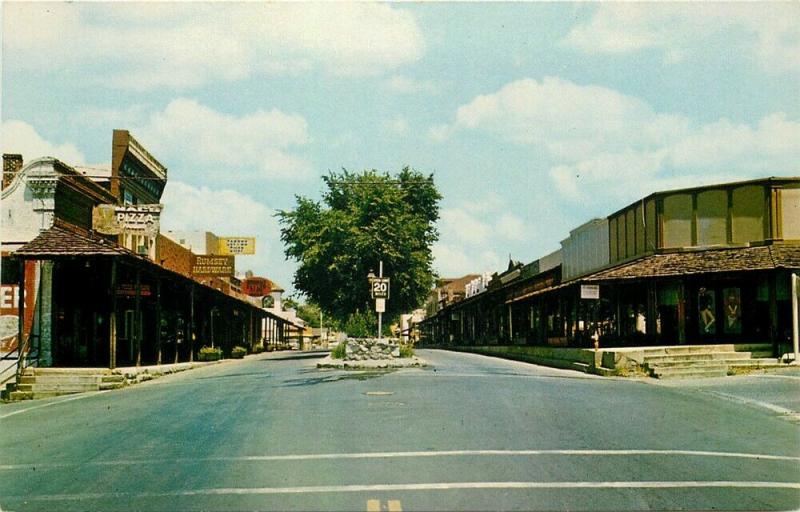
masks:
<instances>
[{"instance_id":1,"label":"puffy white cloud just above the tall left brown parapet, left of tree","mask_svg":"<svg viewBox=\"0 0 800 512\"><path fill-rule=\"evenodd\" d=\"M135 133L159 158L203 169L216 181L312 175L311 163L290 152L309 142L308 123L277 109L234 116L179 98Z\"/></svg>"}]
</instances>

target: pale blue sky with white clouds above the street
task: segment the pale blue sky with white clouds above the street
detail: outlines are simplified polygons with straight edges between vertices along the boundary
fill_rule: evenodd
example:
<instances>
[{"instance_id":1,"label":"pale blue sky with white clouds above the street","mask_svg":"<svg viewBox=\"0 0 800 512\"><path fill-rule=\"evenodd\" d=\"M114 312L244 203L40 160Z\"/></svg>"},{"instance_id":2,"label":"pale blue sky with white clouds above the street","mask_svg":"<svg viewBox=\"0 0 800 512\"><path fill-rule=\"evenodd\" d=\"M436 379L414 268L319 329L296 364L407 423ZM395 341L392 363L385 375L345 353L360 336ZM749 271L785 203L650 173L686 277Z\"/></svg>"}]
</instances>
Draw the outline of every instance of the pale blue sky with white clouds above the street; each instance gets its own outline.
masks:
<instances>
[{"instance_id":1,"label":"pale blue sky with white clouds above the street","mask_svg":"<svg viewBox=\"0 0 800 512\"><path fill-rule=\"evenodd\" d=\"M443 277L503 270L652 192L800 175L800 3L2 2L2 149L169 169L162 229L255 236L330 170L444 196Z\"/></svg>"}]
</instances>

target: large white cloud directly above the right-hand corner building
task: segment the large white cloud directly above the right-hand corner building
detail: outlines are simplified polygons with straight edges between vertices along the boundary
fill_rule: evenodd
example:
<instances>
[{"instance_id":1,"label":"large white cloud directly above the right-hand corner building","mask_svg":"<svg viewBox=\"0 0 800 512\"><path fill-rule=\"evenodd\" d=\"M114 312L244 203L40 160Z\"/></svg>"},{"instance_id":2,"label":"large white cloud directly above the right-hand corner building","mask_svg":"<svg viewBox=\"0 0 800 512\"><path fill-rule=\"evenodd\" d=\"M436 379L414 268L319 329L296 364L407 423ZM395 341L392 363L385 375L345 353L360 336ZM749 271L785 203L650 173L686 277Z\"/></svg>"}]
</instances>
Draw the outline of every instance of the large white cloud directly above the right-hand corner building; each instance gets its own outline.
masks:
<instances>
[{"instance_id":1,"label":"large white cloud directly above the right-hand corner building","mask_svg":"<svg viewBox=\"0 0 800 512\"><path fill-rule=\"evenodd\" d=\"M519 80L478 96L435 131L482 131L531 147L550 162L556 190L587 205L635 199L685 177L730 181L800 170L800 123L783 113L754 126L726 119L699 124L608 88L559 78Z\"/></svg>"}]
</instances>

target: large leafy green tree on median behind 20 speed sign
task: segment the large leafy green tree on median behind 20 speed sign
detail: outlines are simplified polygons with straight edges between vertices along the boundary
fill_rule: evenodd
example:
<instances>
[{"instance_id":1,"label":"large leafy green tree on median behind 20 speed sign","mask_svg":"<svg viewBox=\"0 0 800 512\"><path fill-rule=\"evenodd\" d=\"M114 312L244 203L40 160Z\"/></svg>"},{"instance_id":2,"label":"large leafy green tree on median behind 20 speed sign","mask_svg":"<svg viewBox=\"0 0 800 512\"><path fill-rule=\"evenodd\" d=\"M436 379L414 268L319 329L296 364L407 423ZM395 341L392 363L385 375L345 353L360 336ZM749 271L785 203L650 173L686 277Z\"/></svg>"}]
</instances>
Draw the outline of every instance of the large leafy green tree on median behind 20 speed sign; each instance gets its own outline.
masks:
<instances>
[{"instance_id":1,"label":"large leafy green tree on median behind 20 speed sign","mask_svg":"<svg viewBox=\"0 0 800 512\"><path fill-rule=\"evenodd\" d=\"M347 170L323 176L322 201L297 196L278 212L287 259L299 263L294 286L328 315L346 322L374 308L367 274L391 278L386 316L410 311L433 285L431 245L438 239L441 195L433 175Z\"/></svg>"}]
</instances>

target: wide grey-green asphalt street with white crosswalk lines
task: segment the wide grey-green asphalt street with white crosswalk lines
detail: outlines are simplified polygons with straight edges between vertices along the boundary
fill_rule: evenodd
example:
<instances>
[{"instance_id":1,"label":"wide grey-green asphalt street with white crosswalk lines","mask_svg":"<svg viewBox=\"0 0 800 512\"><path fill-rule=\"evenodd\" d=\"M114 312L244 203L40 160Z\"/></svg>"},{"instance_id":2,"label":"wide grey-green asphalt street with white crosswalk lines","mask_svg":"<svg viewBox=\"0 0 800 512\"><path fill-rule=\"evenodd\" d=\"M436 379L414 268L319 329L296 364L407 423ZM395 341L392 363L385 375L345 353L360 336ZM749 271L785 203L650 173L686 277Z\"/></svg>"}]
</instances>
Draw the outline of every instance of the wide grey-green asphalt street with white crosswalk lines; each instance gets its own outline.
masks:
<instances>
[{"instance_id":1,"label":"wide grey-green asphalt street with white crosswalk lines","mask_svg":"<svg viewBox=\"0 0 800 512\"><path fill-rule=\"evenodd\" d=\"M420 355L433 367L348 373L271 354L0 406L0 508L800 508L800 424L775 410Z\"/></svg>"}]
</instances>

